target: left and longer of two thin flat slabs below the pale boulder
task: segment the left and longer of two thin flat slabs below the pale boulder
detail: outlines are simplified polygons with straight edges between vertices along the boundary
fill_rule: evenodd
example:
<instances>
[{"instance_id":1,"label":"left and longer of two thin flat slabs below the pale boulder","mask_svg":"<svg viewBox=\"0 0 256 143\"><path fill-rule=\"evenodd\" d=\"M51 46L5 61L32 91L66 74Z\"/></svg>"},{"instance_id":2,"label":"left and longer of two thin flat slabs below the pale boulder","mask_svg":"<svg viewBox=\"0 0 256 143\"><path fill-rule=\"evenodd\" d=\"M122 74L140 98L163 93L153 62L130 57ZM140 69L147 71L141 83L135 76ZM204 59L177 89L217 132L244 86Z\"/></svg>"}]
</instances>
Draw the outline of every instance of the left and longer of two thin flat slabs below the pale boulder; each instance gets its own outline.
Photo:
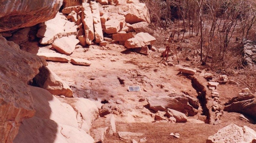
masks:
<instances>
[{"instance_id":1,"label":"left and longer of two thin flat slabs below the pale boulder","mask_svg":"<svg viewBox=\"0 0 256 143\"><path fill-rule=\"evenodd\" d=\"M56 61L56 62L68 62L69 59L66 57L66 55L60 54L60 53L37 53L37 56L41 56L45 60L48 61Z\"/></svg>"}]
</instances>

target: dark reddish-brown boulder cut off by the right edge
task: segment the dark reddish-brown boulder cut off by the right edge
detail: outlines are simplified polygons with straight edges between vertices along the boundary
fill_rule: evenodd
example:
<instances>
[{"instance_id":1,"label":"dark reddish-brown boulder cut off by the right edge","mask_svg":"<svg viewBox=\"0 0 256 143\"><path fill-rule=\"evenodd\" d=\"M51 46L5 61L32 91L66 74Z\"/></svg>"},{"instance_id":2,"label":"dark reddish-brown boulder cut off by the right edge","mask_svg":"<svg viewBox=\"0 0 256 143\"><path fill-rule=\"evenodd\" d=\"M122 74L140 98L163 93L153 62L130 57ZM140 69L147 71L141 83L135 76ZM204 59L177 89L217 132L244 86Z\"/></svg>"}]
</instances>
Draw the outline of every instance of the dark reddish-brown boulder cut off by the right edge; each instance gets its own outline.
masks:
<instances>
[{"instance_id":1,"label":"dark reddish-brown boulder cut off by the right edge","mask_svg":"<svg viewBox=\"0 0 256 143\"><path fill-rule=\"evenodd\" d=\"M239 95L228 101L224 111L240 112L250 117L256 118L256 95Z\"/></svg>"}]
</instances>

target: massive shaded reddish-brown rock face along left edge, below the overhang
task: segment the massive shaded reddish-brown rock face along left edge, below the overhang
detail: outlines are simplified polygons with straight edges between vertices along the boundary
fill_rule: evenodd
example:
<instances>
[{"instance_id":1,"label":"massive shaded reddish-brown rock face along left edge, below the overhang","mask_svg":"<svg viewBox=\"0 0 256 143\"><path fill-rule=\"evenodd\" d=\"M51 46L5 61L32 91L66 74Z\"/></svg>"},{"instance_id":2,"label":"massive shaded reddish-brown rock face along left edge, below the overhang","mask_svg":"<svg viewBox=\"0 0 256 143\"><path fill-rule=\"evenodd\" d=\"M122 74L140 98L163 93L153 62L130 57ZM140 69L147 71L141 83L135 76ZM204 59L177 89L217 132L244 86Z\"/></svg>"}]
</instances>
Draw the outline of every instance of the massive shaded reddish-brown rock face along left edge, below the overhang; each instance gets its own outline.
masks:
<instances>
[{"instance_id":1,"label":"massive shaded reddish-brown rock face along left edge, below the overhang","mask_svg":"<svg viewBox=\"0 0 256 143\"><path fill-rule=\"evenodd\" d=\"M34 116L28 82L46 64L0 35L0 142L12 142L20 123Z\"/></svg>"}]
</instances>

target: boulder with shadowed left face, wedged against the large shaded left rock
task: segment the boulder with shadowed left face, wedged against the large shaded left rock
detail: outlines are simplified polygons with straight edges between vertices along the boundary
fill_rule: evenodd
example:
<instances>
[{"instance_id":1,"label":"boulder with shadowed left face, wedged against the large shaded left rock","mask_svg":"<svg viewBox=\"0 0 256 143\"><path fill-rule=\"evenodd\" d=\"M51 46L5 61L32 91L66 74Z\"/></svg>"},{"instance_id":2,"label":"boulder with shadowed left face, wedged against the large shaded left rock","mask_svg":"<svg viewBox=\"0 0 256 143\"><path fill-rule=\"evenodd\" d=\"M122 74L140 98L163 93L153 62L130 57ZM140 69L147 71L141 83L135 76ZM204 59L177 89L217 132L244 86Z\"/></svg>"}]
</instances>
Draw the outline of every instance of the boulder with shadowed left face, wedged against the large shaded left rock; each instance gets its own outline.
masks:
<instances>
[{"instance_id":1,"label":"boulder with shadowed left face, wedged against the large shaded left rock","mask_svg":"<svg viewBox=\"0 0 256 143\"><path fill-rule=\"evenodd\" d=\"M54 72L49 70L46 66L41 67L39 71L40 72L33 79L38 87L42 87L54 95L73 97L73 92L70 87Z\"/></svg>"}]
</instances>

